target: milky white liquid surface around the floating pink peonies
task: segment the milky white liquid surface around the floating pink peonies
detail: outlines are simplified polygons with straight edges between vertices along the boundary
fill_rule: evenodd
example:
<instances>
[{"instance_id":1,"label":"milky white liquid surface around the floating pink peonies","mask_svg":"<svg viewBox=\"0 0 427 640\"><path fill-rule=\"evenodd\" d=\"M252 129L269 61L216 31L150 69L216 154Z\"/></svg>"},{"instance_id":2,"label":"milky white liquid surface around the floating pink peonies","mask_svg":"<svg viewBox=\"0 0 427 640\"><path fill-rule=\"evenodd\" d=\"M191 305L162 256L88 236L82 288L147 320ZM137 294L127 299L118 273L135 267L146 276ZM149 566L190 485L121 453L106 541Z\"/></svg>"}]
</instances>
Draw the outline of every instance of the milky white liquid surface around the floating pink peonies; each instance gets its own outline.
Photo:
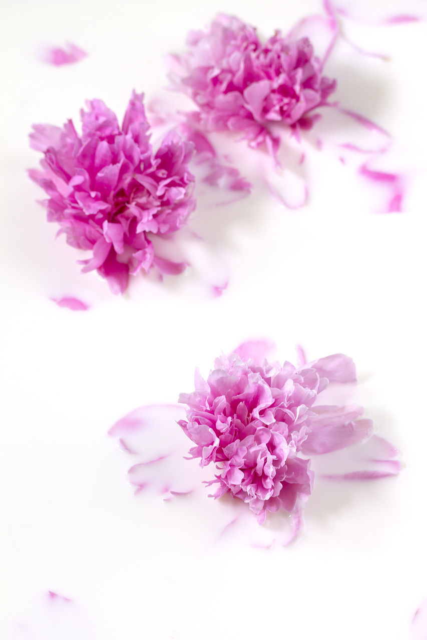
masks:
<instances>
[{"instance_id":1,"label":"milky white liquid surface around the floating pink peonies","mask_svg":"<svg viewBox=\"0 0 427 640\"><path fill-rule=\"evenodd\" d=\"M96 628L106 640L402 640L426 596L425 23L349 26L358 44L392 60L347 51L327 68L346 106L394 134L390 163L410 176L408 210L371 214L367 186L312 152L305 209L285 211L256 191L236 207L197 211L206 256L230 275L219 299L192 271L164 285L141 279L113 297L104 282L80 275L74 250L53 240L56 228L35 204L40 189L24 173L38 160L28 149L31 123L76 122L92 97L120 117L133 87L153 97L165 77L161 56L180 51L188 29L217 10L267 34L286 31L317 3L280 7L3 1L6 640L28 637L12 634L16 620L33 625L37 639L69 637L67 623L53 631L48 609L37 605L47 589L84 609L92 627L81 623L76 636L97 637ZM89 57L59 68L35 57L39 45L65 40ZM49 301L62 295L93 306L70 312ZM207 373L216 355L253 336L275 339L283 359L294 357L297 342L309 358L352 356L358 401L406 462L396 480L351 484L346 495L331 490L319 500L314 492L299 543L270 551L214 546L206 506L194 513L185 502L135 499L128 460L106 436L133 408L176 401L192 388L196 365Z\"/></svg>"}]
</instances>

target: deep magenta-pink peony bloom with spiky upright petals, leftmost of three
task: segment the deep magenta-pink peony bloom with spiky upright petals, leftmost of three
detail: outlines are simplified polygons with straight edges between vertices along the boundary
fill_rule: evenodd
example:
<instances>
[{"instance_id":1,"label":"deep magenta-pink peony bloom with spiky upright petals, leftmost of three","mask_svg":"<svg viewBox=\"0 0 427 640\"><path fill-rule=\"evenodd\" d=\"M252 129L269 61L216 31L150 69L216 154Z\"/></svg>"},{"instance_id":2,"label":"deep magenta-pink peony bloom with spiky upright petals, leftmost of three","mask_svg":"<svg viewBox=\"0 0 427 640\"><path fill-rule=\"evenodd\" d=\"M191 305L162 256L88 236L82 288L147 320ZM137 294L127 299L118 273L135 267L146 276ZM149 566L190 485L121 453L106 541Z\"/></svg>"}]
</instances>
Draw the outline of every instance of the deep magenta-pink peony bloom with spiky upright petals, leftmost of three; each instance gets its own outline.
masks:
<instances>
[{"instance_id":1,"label":"deep magenta-pink peony bloom with spiky upright petals, leftmost of three","mask_svg":"<svg viewBox=\"0 0 427 640\"><path fill-rule=\"evenodd\" d=\"M92 253L82 271L96 269L113 293L141 269L182 271L156 255L153 238L183 227L195 205L193 145L172 133L154 152L143 97L133 93L121 127L102 100L91 100L81 110L81 135L71 120L62 129L34 125L30 135L44 154L42 171L29 175L49 196L47 220L68 244Z\"/></svg>"}]
</instances>

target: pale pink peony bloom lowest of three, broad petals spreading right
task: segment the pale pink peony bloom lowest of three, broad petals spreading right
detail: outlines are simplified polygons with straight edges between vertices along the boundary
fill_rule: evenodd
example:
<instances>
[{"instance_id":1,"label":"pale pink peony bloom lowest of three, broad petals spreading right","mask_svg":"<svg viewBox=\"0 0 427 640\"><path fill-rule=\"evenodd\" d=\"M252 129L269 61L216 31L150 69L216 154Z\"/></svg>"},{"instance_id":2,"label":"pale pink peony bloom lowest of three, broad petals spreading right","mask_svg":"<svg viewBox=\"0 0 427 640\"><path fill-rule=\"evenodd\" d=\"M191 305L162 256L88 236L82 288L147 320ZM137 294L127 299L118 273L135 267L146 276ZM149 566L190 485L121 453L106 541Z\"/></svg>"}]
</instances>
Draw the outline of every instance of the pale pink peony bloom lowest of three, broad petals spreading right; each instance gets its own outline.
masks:
<instances>
[{"instance_id":1,"label":"pale pink peony bloom lowest of three, broad petals spreading right","mask_svg":"<svg viewBox=\"0 0 427 640\"><path fill-rule=\"evenodd\" d=\"M319 403L330 383L356 381L351 358L297 368L269 364L257 349L246 343L217 358L206 381L196 371L196 390L180 396L188 410L178 424L196 445L190 455L217 468L214 497L229 492L264 522L266 511L292 513L309 497L311 456L362 442L373 424L361 407Z\"/></svg>"}]
</instances>

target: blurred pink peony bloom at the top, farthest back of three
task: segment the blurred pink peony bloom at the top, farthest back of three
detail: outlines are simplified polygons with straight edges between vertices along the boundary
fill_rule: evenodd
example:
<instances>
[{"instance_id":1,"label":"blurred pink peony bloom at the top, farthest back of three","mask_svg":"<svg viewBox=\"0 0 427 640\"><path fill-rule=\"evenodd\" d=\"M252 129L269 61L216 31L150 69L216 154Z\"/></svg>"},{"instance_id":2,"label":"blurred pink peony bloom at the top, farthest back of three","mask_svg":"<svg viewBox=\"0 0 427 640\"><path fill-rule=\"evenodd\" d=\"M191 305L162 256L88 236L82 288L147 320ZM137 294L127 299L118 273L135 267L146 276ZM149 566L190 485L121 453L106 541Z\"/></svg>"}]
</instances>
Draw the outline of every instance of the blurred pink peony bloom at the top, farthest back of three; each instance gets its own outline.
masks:
<instances>
[{"instance_id":1,"label":"blurred pink peony bloom at the top, farthest back of three","mask_svg":"<svg viewBox=\"0 0 427 640\"><path fill-rule=\"evenodd\" d=\"M190 32L187 45L174 56L172 81L196 102L192 118L209 131L242 131L254 147L277 148L269 124L310 128L313 110L335 90L308 38L276 31L263 44L256 29L220 14L207 31Z\"/></svg>"}]
</instances>

